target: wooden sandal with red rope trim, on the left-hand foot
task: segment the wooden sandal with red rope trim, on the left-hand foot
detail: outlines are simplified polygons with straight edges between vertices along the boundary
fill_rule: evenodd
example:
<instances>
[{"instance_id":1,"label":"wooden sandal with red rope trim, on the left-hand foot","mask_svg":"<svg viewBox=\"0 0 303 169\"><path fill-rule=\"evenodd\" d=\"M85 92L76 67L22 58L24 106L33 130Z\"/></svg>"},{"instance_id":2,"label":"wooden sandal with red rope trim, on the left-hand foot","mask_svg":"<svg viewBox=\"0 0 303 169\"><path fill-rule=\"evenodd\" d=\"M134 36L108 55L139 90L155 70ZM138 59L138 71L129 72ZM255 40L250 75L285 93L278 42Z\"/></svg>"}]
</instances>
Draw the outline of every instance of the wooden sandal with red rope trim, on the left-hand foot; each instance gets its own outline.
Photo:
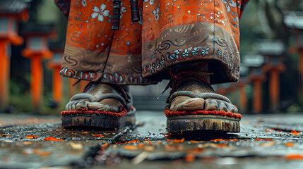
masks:
<instances>
[{"instance_id":1,"label":"wooden sandal with red rope trim, on the left-hand foot","mask_svg":"<svg viewBox=\"0 0 303 169\"><path fill-rule=\"evenodd\" d=\"M87 92L93 83L85 87ZM101 94L94 96L89 93L76 94L71 97L70 103L87 99L90 102L100 102L104 99L116 99L121 102L123 106L120 107L120 112L111 111L92 111L86 110L69 110L62 111L62 127L64 128L88 128L95 130L117 130L124 125L133 125L136 121L135 113L136 108L132 105L131 95L124 91L124 89L117 84L108 84L117 91L117 93ZM67 105L68 106L68 105Z\"/></svg>"}]
</instances>

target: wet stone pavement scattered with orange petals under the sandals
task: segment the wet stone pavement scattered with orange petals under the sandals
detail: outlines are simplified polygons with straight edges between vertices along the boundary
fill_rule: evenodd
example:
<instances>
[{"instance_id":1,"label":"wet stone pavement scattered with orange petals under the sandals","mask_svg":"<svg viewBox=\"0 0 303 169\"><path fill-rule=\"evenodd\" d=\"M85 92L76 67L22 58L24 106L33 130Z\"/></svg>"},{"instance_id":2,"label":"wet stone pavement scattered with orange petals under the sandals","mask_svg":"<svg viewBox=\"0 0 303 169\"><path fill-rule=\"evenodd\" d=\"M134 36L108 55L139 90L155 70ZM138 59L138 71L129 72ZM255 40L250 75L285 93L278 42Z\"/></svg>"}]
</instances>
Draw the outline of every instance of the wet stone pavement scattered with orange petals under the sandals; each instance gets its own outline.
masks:
<instances>
[{"instance_id":1,"label":"wet stone pavement scattered with orange petals under the sandals","mask_svg":"<svg viewBox=\"0 0 303 169\"><path fill-rule=\"evenodd\" d=\"M243 115L239 134L167 133L162 112L119 131L0 115L0 168L303 168L303 113ZM47 141L58 139L59 141Z\"/></svg>"}]
</instances>

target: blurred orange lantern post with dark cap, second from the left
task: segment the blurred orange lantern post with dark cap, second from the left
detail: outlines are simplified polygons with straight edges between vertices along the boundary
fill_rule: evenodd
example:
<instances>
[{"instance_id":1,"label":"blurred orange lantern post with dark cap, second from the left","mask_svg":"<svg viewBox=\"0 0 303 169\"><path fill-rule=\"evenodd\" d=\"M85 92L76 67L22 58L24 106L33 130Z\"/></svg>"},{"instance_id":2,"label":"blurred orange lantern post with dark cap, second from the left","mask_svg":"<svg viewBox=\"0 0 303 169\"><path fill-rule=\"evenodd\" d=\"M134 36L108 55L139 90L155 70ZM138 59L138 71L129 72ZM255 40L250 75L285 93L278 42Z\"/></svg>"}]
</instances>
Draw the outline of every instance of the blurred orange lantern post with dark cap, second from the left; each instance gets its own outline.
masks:
<instances>
[{"instance_id":1,"label":"blurred orange lantern post with dark cap, second from the left","mask_svg":"<svg viewBox=\"0 0 303 169\"><path fill-rule=\"evenodd\" d=\"M51 25L31 24L25 26L23 35L26 37L26 49L22 54L25 58L30 58L30 92L32 104L35 111L40 110L40 101L43 89L43 64L42 59L51 58L52 52L47 47L47 38L55 34Z\"/></svg>"}]
</instances>

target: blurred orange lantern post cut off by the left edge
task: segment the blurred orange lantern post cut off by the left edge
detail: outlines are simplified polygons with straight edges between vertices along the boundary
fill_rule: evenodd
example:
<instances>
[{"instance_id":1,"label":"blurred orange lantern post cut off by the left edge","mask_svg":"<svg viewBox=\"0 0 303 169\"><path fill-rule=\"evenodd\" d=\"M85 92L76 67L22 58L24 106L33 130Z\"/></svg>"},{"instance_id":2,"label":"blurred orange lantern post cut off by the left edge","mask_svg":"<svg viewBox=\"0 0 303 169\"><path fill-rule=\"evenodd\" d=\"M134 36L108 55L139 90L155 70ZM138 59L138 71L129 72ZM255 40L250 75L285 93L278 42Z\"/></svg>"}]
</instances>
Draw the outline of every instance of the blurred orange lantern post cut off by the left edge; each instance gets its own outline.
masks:
<instances>
[{"instance_id":1,"label":"blurred orange lantern post cut off by the left edge","mask_svg":"<svg viewBox=\"0 0 303 169\"><path fill-rule=\"evenodd\" d=\"M11 3L10 1L4 4ZM20 2L24 4L23 2ZM19 21L28 20L27 6L18 12L0 11L0 110L8 107L8 81L10 75L10 56L8 46L23 44L23 38L18 36Z\"/></svg>"}]
</instances>

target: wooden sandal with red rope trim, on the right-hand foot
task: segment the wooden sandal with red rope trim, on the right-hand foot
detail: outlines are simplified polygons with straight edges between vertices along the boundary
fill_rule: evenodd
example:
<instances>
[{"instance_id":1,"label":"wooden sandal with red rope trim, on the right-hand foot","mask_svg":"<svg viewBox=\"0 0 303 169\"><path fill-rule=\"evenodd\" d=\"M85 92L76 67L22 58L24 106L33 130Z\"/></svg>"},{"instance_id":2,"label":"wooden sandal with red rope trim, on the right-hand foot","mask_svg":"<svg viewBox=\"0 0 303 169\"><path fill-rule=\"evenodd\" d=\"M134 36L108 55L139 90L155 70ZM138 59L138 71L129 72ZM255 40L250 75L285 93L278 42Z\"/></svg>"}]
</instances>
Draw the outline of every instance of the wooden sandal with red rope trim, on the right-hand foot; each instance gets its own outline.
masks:
<instances>
[{"instance_id":1,"label":"wooden sandal with red rope trim, on the right-hand foot","mask_svg":"<svg viewBox=\"0 0 303 169\"><path fill-rule=\"evenodd\" d=\"M189 96L191 98L230 100L227 97L215 93L201 93L179 91L170 96L170 103L177 96ZM167 116L167 130L169 132L186 131L218 131L239 132L239 121L242 115L224 111L170 111L170 105L165 108Z\"/></svg>"}]
</instances>

